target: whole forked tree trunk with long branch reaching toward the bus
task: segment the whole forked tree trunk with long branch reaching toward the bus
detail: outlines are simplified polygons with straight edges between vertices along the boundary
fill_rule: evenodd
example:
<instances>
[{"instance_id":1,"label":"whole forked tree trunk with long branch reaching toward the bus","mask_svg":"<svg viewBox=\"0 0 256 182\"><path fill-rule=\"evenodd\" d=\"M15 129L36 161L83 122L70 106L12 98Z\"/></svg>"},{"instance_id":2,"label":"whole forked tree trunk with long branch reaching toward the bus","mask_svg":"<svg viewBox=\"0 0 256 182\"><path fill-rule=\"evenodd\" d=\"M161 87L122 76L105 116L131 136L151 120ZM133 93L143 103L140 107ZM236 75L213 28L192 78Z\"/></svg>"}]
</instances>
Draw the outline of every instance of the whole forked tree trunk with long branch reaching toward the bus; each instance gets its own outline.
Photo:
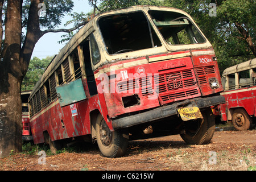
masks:
<instances>
[{"instance_id":1,"label":"whole forked tree trunk with long branch reaching toward the bus","mask_svg":"<svg viewBox=\"0 0 256 182\"><path fill-rule=\"evenodd\" d=\"M0 0L0 6L3 0ZM21 48L22 2L8 0L5 19L5 44L0 59L0 158L22 151L22 101L20 89L36 42L48 32L71 32L71 29L41 31L38 5L43 0L31 0L26 38ZM2 7L2 6L1 6ZM0 22L1 39L1 22Z\"/></svg>"}]
</instances>

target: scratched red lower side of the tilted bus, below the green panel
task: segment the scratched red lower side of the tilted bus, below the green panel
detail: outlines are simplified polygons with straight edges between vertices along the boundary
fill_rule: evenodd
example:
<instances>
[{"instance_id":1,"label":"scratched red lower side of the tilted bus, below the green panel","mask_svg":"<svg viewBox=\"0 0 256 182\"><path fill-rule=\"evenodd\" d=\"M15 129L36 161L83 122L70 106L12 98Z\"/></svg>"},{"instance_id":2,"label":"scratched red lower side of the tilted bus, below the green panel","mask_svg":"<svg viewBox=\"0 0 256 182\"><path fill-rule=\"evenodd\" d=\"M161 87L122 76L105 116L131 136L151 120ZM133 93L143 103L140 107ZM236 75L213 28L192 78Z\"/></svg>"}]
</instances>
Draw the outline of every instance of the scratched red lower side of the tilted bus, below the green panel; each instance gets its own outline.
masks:
<instances>
[{"instance_id":1,"label":"scratched red lower side of the tilted bus, below the green panel","mask_svg":"<svg viewBox=\"0 0 256 182\"><path fill-rule=\"evenodd\" d=\"M44 142L44 131L48 131L52 140L90 134L87 100L62 108L55 101L46 109L48 110L42 110L32 118L31 128L35 143Z\"/></svg>"}]
</instances>

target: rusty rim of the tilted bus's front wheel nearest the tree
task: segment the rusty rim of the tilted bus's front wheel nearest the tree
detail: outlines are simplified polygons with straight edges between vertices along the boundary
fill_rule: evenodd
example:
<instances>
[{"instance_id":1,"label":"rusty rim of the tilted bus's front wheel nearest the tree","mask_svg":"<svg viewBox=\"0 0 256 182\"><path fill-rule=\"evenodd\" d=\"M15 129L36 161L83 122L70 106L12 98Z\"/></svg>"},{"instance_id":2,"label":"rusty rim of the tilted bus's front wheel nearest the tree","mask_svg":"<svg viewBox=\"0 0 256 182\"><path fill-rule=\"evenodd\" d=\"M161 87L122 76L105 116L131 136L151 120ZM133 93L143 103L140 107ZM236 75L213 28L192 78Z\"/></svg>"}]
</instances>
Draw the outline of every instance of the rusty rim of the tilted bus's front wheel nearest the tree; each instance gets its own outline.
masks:
<instances>
[{"instance_id":1,"label":"rusty rim of the tilted bus's front wheel nearest the tree","mask_svg":"<svg viewBox=\"0 0 256 182\"><path fill-rule=\"evenodd\" d=\"M104 146L109 147L112 144L112 131L109 130L108 125L102 119L101 125L100 125L100 140L101 143L104 144Z\"/></svg>"}]
</instances>

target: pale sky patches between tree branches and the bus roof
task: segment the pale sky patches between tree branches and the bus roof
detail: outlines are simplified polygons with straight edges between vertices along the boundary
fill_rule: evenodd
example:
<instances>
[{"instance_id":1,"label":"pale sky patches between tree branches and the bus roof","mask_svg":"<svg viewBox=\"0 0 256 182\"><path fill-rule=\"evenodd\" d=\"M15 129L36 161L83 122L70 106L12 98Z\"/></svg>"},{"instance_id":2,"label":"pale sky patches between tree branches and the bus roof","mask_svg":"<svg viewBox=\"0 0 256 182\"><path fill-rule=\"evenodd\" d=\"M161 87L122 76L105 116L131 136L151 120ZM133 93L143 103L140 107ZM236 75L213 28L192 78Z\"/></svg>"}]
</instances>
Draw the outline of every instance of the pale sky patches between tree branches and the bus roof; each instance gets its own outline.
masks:
<instances>
[{"instance_id":1,"label":"pale sky patches between tree branches and the bus roof","mask_svg":"<svg viewBox=\"0 0 256 182\"><path fill-rule=\"evenodd\" d=\"M88 0L73 0L74 7L72 12L76 13L88 13L90 10L92 10L92 7L89 6ZM55 29L59 28L72 28L72 24L68 27L64 27L64 24L71 20L71 16L65 15L65 17L61 20L61 25L59 27L56 27ZM65 32L58 32L58 33L47 33L42 36L38 40L38 43L36 43L34 51L32 53L32 57L38 57L39 59L43 59L47 56L53 56L59 53L60 49L65 46L65 43L59 44L57 43L60 41L61 35L66 34Z\"/></svg>"}]
</instances>

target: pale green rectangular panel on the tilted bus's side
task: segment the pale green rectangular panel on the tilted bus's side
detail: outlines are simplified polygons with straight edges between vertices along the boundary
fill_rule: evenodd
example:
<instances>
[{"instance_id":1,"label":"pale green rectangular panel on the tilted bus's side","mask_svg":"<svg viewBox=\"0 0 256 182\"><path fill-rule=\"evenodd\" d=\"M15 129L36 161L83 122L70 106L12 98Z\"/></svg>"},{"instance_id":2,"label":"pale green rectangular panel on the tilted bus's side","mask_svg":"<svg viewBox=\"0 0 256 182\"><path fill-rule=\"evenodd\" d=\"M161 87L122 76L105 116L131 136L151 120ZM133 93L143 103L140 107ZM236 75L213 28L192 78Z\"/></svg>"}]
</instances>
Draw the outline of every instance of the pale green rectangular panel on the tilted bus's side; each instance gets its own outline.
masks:
<instances>
[{"instance_id":1,"label":"pale green rectangular panel on the tilted bus's side","mask_svg":"<svg viewBox=\"0 0 256 182\"><path fill-rule=\"evenodd\" d=\"M56 86L56 92L61 107L86 99L81 78L64 85Z\"/></svg>"}]
</instances>

